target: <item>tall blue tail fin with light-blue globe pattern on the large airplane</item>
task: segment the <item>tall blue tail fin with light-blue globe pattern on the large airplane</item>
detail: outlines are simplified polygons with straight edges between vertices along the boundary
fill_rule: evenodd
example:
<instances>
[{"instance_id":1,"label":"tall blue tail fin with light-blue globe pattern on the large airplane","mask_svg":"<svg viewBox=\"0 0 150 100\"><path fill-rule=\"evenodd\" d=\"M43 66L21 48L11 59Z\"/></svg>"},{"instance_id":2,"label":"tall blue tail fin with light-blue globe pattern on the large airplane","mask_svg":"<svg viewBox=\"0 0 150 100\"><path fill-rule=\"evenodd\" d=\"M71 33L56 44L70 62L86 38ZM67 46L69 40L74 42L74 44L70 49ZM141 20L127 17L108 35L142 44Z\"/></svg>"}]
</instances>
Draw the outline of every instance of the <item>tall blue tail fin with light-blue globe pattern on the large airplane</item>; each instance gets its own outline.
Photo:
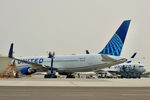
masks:
<instances>
[{"instance_id":1,"label":"tall blue tail fin with light-blue globe pattern on the large airplane","mask_svg":"<svg viewBox=\"0 0 150 100\"><path fill-rule=\"evenodd\" d=\"M125 20L99 54L120 56L131 20Z\"/></svg>"}]
</instances>

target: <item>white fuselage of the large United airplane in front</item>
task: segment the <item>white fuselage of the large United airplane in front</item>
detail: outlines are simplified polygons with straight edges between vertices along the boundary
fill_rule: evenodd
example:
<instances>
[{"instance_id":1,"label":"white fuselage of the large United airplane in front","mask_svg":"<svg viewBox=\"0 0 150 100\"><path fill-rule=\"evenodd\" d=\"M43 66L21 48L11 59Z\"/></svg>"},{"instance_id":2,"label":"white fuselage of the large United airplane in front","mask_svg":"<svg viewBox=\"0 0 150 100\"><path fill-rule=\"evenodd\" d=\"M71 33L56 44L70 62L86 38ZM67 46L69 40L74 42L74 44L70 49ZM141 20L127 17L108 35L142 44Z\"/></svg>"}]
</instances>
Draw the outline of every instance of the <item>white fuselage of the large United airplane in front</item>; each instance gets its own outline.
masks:
<instances>
[{"instance_id":1,"label":"white fuselage of the large United airplane in front","mask_svg":"<svg viewBox=\"0 0 150 100\"><path fill-rule=\"evenodd\" d=\"M113 60L106 60L101 54L55 56L53 67L58 72L87 72L107 68L126 61L125 58L119 56L109 57ZM20 57L18 59L51 67L51 58L48 57ZM20 61L15 61L15 64L18 67L31 66Z\"/></svg>"}]
</instances>

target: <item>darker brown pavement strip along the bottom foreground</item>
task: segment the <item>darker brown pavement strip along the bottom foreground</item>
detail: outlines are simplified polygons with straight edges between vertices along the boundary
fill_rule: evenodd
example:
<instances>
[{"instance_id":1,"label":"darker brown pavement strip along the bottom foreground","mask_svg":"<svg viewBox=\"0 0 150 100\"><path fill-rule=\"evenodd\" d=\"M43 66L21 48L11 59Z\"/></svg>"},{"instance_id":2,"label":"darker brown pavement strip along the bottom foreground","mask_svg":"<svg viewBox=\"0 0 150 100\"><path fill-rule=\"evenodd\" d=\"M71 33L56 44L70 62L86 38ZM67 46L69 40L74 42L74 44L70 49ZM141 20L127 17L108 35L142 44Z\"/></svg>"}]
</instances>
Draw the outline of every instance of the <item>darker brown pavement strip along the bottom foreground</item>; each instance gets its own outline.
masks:
<instances>
[{"instance_id":1,"label":"darker brown pavement strip along the bottom foreground","mask_svg":"<svg viewBox=\"0 0 150 100\"><path fill-rule=\"evenodd\" d=\"M150 87L0 87L0 100L149 100Z\"/></svg>"}]
</instances>

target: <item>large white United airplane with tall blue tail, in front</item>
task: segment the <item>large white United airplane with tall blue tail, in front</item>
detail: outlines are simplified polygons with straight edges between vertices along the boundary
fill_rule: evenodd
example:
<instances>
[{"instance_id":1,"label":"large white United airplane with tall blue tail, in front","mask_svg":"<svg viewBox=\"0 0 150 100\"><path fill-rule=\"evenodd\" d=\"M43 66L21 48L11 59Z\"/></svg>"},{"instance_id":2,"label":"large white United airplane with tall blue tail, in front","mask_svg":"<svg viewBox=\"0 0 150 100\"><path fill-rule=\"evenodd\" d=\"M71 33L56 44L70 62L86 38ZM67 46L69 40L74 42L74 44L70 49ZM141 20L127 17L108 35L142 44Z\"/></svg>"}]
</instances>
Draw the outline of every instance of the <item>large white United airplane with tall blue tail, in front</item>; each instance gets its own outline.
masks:
<instances>
[{"instance_id":1,"label":"large white United airplane with tall blue tail, in front","mask_svg":"<svg viewBox=\"0 0 150 100\"><path fill-rule=\"evenodd\" d=\"M13 59L16 68L24 75L31 75L35 72L47 72L45 78L57 77L55 72L67 75L67 78L74 78L75 72L89 72L107 68L127 61L120 57L130 20L125 20L107 43L104 49L98 54L78 54L55 56L49 53L48 57L13 57L13 43L8 54Z\"/></svg>"}]
</instances>

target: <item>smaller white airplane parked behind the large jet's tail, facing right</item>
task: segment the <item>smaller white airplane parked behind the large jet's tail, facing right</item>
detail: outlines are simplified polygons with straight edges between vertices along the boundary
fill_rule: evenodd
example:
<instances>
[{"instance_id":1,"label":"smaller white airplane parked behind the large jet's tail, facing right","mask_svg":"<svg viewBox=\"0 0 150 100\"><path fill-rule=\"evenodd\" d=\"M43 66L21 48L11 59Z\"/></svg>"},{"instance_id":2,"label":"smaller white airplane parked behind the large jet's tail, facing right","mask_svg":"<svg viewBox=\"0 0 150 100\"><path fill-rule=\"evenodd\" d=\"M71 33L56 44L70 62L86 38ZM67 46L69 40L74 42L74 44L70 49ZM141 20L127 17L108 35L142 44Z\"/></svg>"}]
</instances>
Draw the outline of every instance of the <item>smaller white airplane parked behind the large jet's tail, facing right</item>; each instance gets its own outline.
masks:
<instances>
[{"instance_id":1,"label":"smaller white airplane parked behind the large jet's tail, facing right","mask_svg":"<svg viewBox=\"0 0 150 100\"><path fill-rule=\"evenodd\" d=\"M134 53L131 56L131 59L133 59L136 56L137 53ZM140 63L133 63L131 60L118 64L115 66L111 66L110 68L106 68L100 71L97 71L96 73L111 73L112 75L120 75L121 78L140 78L142 73L145 72L145 68Z\"/></svg>"}]
</instances>

